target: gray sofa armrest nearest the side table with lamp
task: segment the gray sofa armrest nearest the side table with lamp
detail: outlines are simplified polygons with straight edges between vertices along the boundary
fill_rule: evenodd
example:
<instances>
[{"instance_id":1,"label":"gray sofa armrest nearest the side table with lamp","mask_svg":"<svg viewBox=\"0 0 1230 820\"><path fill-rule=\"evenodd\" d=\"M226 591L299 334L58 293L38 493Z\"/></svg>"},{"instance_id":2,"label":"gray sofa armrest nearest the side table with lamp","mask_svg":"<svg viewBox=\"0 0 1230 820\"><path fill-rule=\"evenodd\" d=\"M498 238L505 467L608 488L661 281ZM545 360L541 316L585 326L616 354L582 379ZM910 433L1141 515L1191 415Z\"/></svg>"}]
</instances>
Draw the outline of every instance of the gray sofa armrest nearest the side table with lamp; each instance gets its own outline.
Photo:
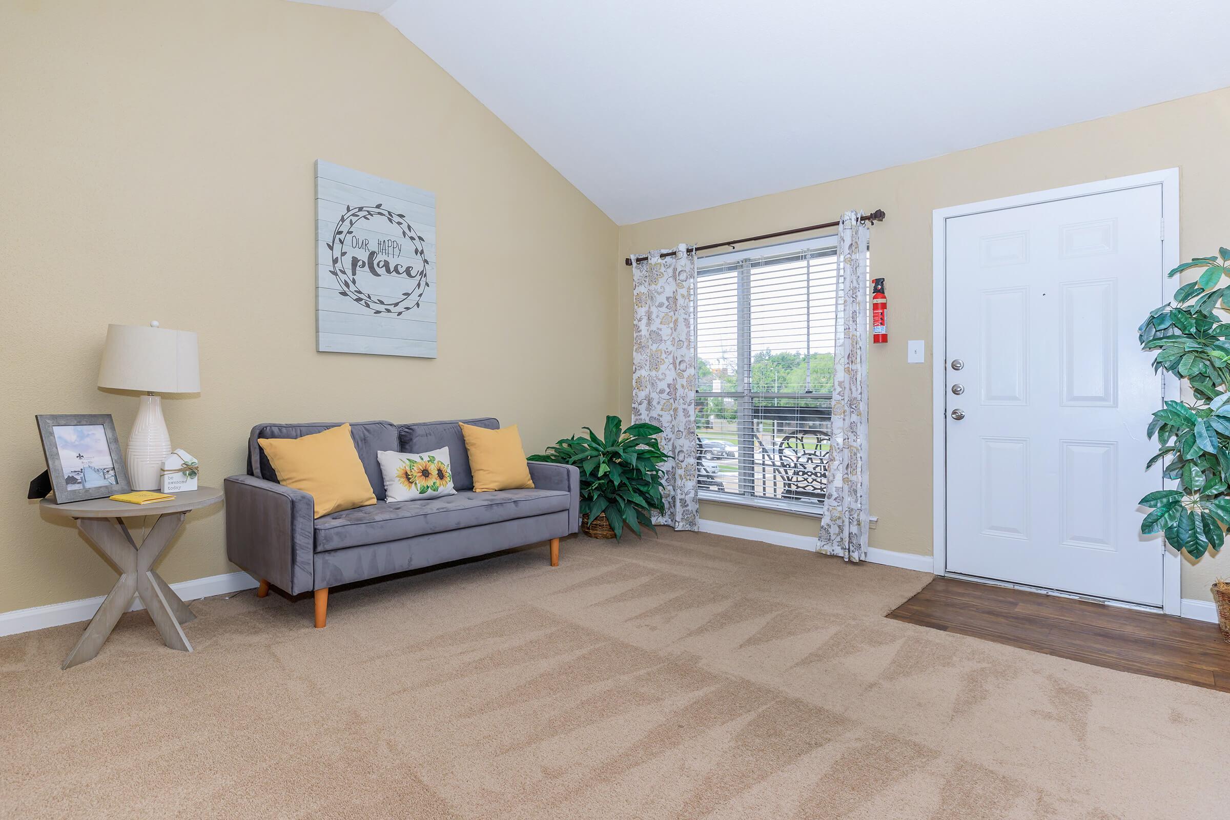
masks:
<instances>
[{"instance_id":1,"label":"gray sofa armrest nearest the side table with lamp","mask_svg":"<svg viewBox=\"0 0 1230 820\"><path fill-rule=\"evenodd\" d=\"M226 557L252 575L298 595L312 589L315 499L301 489L231 476L226 495Z\"/></svg>"}]
</instances>

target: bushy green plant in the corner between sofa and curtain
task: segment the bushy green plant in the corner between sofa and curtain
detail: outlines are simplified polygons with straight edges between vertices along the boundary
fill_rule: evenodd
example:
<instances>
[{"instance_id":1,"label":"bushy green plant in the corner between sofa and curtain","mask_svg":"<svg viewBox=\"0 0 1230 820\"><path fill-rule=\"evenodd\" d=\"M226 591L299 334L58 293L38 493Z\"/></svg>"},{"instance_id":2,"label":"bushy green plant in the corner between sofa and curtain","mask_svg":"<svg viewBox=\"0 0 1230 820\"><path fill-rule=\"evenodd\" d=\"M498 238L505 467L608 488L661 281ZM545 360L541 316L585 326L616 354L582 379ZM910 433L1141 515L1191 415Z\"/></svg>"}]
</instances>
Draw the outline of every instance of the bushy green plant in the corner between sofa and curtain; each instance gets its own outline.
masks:
<instances>
[{"instance_id":1,"label":"bushy green plant in the corner between sofa and curtain","mask_svg":"<svg viewBox=\"0 0 1230 820\"><path fill-rule=\"evenodd\" d=\"M560 439L530 461L581 470L581 531L589 537L620 538L625 524L638 536L642 524L653 530L651 514L664 509L658 465L670 457L653 438L662 428L633 424L625 430L617 416L608 416L601 438L582 429L589 435Z\"/></svg>"}]
</instances>

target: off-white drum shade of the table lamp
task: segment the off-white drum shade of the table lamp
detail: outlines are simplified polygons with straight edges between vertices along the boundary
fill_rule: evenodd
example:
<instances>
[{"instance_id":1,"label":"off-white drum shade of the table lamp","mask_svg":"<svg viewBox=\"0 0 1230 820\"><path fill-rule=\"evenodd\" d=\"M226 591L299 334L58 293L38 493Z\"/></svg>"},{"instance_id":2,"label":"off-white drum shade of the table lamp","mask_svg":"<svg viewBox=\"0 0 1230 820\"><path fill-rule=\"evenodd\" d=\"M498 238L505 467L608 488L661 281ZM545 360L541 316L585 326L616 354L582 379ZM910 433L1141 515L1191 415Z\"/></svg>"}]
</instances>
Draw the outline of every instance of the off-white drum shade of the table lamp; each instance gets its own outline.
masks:
<instances>
[{"instance_id":1,"label":"off-white drum shade of the table lamp","mask_svg":"<svg viewBox=\"0 0 1230 820\"><path fill-rule=\"evenodd\" d=\"M108 325L98 386L150 393L200 392L197 334L165 327Z\"/></svg>"}]
</instances>

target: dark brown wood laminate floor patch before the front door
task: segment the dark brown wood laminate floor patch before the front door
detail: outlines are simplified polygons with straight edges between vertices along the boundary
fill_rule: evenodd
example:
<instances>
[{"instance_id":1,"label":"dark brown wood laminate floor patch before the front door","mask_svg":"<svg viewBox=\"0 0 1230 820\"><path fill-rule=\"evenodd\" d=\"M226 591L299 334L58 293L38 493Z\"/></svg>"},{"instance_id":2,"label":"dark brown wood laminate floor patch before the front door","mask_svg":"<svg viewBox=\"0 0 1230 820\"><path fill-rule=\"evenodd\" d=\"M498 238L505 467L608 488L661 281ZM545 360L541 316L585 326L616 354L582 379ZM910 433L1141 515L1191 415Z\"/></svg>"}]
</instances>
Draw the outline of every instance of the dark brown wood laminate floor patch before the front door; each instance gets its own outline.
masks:
<instances>
[{"instance_id":1,"label":"dark brown wood laminate floor patch before the front door","mask_svg":"<svg viewBox=\"0 0 1230 820\"><path fill-rule=\"evenodd\" d=\"M1230 692L1230 643L1215 623L953 578L936 578L888 617Z\"/></svg>"}]
</instances>

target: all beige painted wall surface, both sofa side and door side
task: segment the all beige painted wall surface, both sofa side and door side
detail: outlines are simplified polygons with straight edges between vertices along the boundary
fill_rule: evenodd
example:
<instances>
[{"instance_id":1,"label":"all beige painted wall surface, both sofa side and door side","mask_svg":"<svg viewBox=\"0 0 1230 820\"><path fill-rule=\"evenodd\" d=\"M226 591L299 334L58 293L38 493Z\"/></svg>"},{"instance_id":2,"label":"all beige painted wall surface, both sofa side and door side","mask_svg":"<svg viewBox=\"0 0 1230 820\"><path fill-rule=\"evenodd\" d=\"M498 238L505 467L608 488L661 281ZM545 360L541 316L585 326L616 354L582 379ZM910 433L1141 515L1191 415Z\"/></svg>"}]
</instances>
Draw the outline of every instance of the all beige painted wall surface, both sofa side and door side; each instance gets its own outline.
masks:
<instances>
[{"instance_id":1,"label":"all beige painted wall surface, both sofa side and door side","mask_svg":"<svg viewBox=\"0 0 1230 820\"><path fill-rule=\"evenodd\" d=\"M1230 240L1230 90L616 229L375 15L18 0L0 4L0 612L113 581L70 526L23 500L43 468L36 413L112 413L127 436L135 398L93 386L108 322L200 333L202 393L169 400L166 414L207 483L242 470L260 420L493 413L540 449L629 414L624 254L883 208L872 246L892 341L871 352L871 542L929 554L931 370L907 365L904 343L929 339L930 359L932 209L1178 166L1182 256ZM439 359L315 352L317 157L437 193ZM712 520L815 531L803 516L702 507ZM232 570L221 522L220 510L193 514L162 574ZM1226 561L1184 567L1184 597L1208 597Z\"/></svg>"}]
</instances>

